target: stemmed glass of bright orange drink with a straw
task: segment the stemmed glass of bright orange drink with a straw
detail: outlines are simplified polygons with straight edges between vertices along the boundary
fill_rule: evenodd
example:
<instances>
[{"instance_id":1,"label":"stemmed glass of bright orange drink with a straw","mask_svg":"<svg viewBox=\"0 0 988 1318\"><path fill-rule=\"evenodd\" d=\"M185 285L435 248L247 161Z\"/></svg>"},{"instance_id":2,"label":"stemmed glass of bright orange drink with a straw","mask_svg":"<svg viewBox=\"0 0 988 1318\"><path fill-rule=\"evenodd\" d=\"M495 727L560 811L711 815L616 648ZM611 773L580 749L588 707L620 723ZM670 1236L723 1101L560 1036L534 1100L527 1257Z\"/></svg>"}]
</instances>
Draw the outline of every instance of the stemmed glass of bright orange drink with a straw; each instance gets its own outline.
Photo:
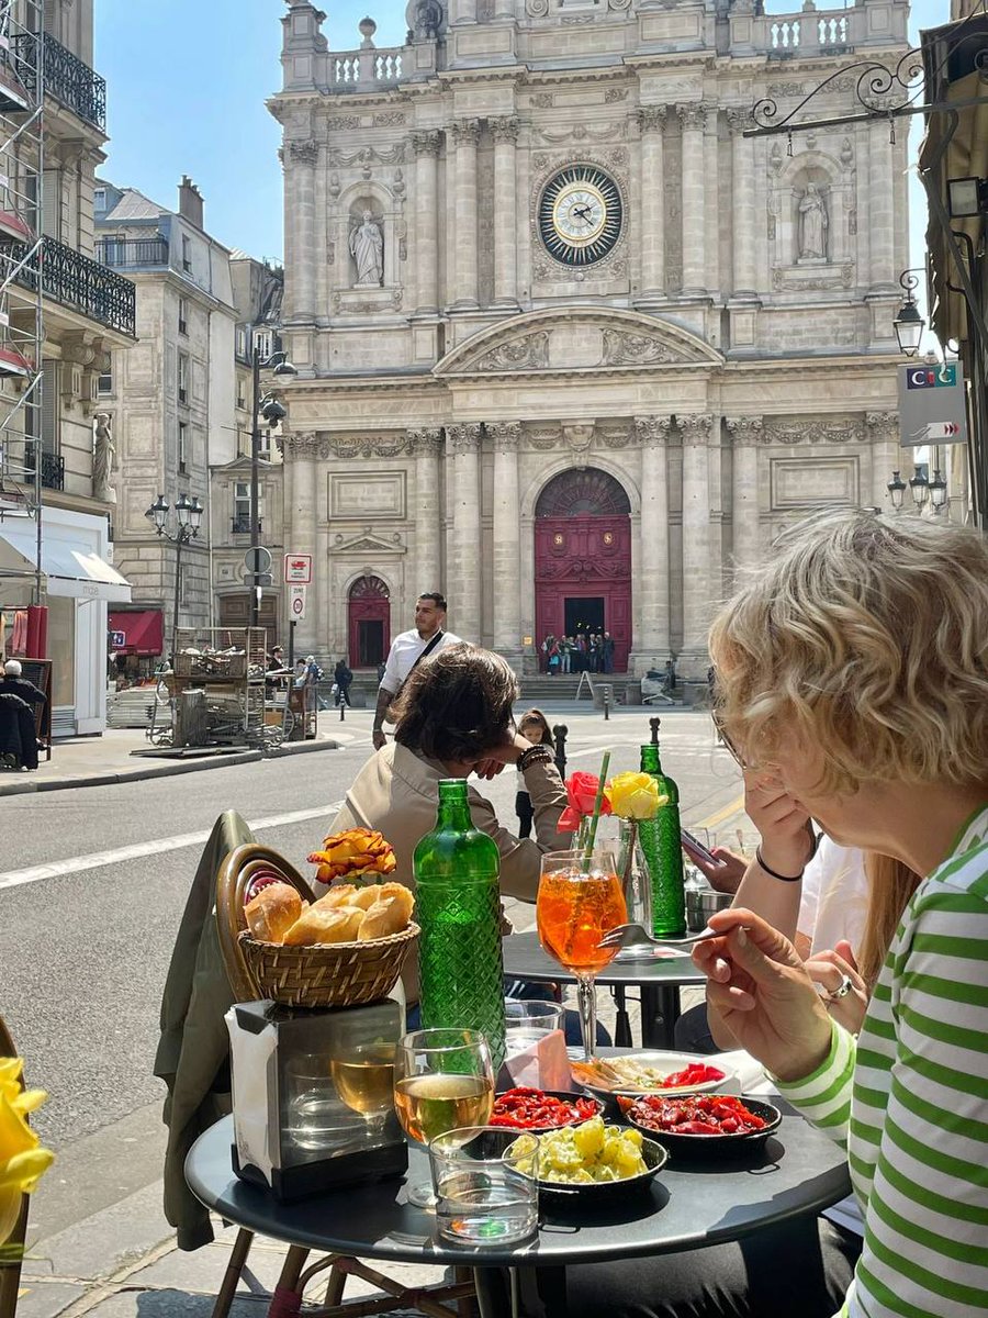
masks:
<instances>
[{"instance_id":1,"label":"stemmed glass of bright orange drink with a straw","mask_svg":"<svg viewBox=\"0 0 988 1318\"><path fill-rule=\"evenodd\" d=\"M584 1057L593 1061L597 1041L594 978L618 948L602 948L601 938L627 923L614 857L603 847L586 851L547 851L541 858L535 905L539 942L577 979Z\"/></svg>"}]
</instances>

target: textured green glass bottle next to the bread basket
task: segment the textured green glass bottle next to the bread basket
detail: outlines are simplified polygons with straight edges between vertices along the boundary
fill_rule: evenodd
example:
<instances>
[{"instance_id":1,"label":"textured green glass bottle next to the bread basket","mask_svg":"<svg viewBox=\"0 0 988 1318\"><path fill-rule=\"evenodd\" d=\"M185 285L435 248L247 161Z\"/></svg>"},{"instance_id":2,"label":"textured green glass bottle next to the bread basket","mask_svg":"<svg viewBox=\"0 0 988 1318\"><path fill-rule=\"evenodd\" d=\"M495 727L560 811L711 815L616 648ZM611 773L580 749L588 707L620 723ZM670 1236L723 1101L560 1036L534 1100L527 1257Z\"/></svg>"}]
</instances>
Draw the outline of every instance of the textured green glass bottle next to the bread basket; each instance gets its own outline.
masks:
<instances>
[{"instance_id":1,"label":"textured green glass bottle next to the bread basket","mask_svg":"<svg viewBox=\"0 0 988 1318\"><path fill-rule=\"evenodd\" d=\"M466 783L439 784L436 826L415 847L423 1028L480 1029L505 1060L501 855L470 818Z\"/></svg>"}]
</instances>

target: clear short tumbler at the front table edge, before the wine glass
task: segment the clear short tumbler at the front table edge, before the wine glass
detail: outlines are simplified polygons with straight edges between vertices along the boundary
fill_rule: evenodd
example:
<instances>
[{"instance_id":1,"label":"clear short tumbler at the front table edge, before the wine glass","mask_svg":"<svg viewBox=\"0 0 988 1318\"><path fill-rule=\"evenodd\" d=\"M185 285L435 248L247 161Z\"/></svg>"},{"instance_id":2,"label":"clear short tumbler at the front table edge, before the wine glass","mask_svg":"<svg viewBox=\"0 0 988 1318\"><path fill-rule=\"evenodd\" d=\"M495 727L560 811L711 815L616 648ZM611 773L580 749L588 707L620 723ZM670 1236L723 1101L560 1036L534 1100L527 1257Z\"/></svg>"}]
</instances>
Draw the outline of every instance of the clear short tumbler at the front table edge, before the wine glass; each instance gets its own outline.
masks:
<instances>
[{"instance_id":1,"label":"clear short tumbler at the front table edge, before the wine glass","mask_svg":"<svg viewBox=\"0 0 988 1318\"><path fill-rule=\"evenodd\" d=\"M429 1144L436 1224L461 1244L511 1244L539 1226L537 1140L495 1126L437 1135Z\"/></svg>"}]
</instances>

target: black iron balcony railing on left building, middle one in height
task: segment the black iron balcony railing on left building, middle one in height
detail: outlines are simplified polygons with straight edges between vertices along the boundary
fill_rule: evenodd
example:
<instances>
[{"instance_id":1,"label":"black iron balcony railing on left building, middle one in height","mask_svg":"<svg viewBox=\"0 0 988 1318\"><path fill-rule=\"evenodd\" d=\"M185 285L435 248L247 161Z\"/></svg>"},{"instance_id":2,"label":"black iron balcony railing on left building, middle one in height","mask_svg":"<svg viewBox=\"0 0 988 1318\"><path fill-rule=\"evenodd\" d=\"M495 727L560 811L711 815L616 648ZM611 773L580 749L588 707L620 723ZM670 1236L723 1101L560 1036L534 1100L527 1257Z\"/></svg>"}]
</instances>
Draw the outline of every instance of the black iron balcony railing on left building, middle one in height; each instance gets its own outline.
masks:
<instances>
[{"instance_id":1,"label":"black iron balcony railing on left building, middle one in height","mask_svg":"<svg viewBox=\"0 0 988 1318\"><path fill-rule=\"evenodd\" d=\"M29 250L22 243L4 243L0 256L17 265ZM133 337L137 327L136 289L123 274L49 237L43 240L41 252L36 252L17 273L16 282L37 293L38 266L41 291L46 298Z\"/></svg>"}]
</instances>

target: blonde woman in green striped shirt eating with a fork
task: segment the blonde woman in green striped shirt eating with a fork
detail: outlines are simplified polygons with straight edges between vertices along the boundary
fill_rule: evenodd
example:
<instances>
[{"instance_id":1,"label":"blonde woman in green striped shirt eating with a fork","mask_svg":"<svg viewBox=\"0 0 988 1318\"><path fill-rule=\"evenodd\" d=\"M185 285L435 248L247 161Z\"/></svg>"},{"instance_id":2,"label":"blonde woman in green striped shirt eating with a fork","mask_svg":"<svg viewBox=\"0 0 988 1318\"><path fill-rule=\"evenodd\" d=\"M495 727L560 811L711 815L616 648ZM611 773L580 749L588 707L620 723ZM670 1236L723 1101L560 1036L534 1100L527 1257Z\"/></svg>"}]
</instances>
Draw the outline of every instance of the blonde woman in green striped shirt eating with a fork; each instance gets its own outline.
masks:
<instances>
[{"instance_id":1,"label":"blonde woman in green striped shirt eating with a fork","mask_svg":"<svg viewBox=\"0 0 988 1318\"><path fill-rule=\"evenodd\" d=\"M925 875L858 1040L751 911L693 957L709 1010L846 1141L865 1222L851 1318L988 1309L988 548L974 530L815 519L714 622L725 726L844 846Z\"/></svg>"}]
</instances>

